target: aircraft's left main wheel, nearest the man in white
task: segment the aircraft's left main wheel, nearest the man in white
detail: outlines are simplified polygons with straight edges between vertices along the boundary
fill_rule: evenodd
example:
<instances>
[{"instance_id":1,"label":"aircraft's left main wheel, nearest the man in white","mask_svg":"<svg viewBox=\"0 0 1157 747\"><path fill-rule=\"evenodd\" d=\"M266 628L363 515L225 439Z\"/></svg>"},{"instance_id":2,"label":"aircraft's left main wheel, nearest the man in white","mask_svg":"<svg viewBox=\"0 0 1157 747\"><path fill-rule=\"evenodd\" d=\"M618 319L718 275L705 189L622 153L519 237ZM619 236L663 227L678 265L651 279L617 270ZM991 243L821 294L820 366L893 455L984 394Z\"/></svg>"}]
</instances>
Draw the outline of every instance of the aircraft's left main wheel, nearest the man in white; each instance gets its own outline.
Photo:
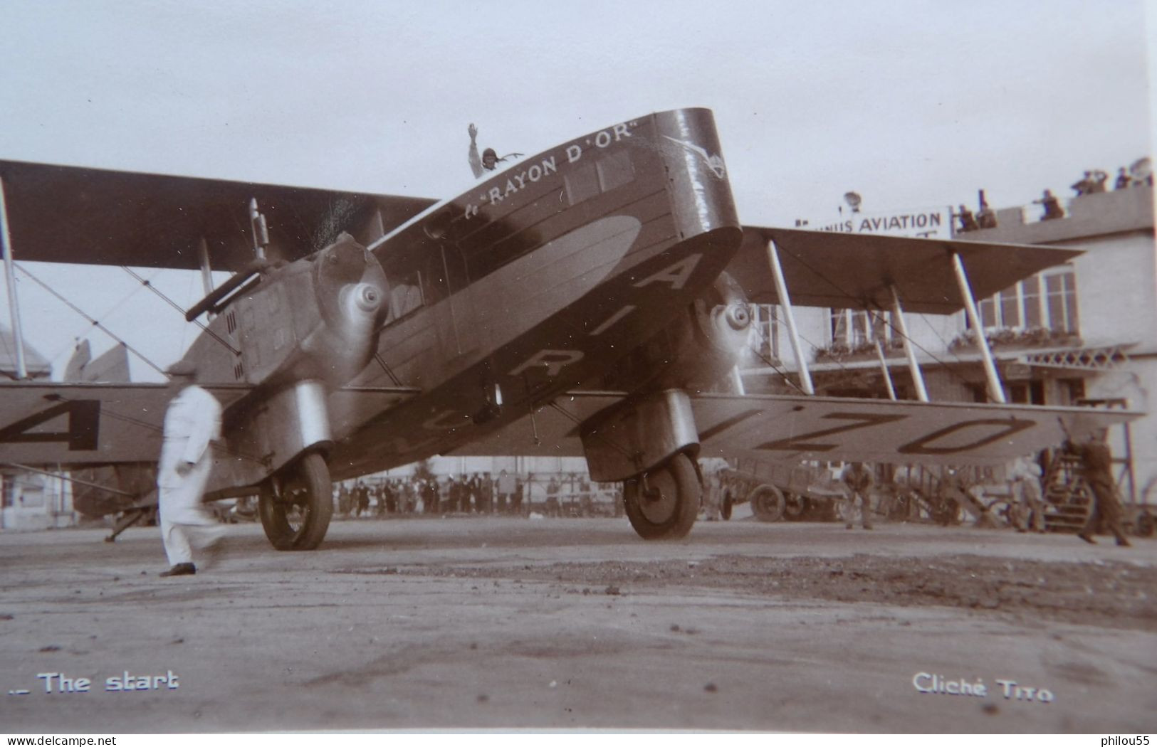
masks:
<instances>
[{"instance_id":1,"label":"aircraft's left main wheel, nearest the man in white","mask_svg":"<svg viewBox=\"0 0 1157 747\"><path fill-rule=\"evenodd\" d=\"M333 516L330 468L319 453L308 453L289 468L277 489L273 479L261 486L257 512L265 537L279 550L311 550L325 539Z\"/></svg>"}]
</instances>

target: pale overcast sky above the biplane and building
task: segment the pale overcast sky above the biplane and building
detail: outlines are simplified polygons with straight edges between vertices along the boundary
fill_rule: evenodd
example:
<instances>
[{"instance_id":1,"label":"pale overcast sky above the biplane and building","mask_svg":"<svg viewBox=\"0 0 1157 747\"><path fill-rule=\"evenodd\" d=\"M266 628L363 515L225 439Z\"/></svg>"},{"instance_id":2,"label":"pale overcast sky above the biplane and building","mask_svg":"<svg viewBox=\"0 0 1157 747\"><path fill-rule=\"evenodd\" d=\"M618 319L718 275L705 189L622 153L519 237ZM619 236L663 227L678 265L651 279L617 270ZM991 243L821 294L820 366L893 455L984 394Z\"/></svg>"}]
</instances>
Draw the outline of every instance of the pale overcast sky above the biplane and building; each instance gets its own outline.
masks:
<instances>
[{"instance_id":1,"label":"pale overcast sky above the biplane and building","mask_svg":"<svg viewBox=\"0 0 1157 747\"><path fill-rule=\"evenodd\" d=\"M708 106L745 223L830 220L848 191L868 213L975 207L978 188L1009 207L1151 154L1152 15L1142 0L7 0L0 158L447 198L473 182L469 123L480 147L535 154ZM22 266L161 365L193 339L120 269ZM185 306L201 295L196 274L146 274ZM113 345L17 275L25 338L58 375L76 338Z\"/></svg>"}]
</instances>

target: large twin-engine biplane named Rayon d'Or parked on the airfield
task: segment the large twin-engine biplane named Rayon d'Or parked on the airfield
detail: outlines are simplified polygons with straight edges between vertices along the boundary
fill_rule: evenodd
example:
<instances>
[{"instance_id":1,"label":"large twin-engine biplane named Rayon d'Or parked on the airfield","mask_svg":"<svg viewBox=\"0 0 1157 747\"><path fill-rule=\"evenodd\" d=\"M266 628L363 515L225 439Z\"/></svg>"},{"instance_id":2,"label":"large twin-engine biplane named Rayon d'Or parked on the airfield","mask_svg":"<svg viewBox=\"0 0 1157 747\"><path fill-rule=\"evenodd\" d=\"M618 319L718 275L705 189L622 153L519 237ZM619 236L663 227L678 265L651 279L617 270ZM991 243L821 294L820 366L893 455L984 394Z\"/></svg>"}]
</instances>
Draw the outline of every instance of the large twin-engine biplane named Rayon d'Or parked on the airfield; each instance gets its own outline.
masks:
<instances>
[{"instance_id":1,"label":"large twin-engine biplane named Rayon d'Or parked on the airfield","mask_svg":"<svg viewBox=\"0 0 1157 747\"><path fill-rule=\"evenodd\" d=\"M21 162L0 178L9 256L234 273L185 315L208 318L185 358L224 408L206 500L258 495L278 549L323 541L332 479L433 454L585 456L662 539L695 520L701 456L1002 463L1084 412L731 386L750 299L951 313L1076 252L744 227L705 109L442 201ZM165 404L163 385L5 383L0 463L155 461Z\"/></svg>"}]
</instances>

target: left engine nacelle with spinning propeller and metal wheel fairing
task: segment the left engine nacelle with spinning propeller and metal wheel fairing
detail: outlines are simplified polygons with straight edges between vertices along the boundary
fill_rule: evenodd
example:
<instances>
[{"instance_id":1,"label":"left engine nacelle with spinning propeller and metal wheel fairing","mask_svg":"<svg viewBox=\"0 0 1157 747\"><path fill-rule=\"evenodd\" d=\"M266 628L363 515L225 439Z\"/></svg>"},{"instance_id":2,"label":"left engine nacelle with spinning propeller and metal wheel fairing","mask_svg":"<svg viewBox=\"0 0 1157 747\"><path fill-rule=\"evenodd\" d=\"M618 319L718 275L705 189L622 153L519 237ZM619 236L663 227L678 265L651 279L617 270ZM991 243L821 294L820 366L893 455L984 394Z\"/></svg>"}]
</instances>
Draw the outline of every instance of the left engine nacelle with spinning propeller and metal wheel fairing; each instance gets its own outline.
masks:
<instances>
[{"instance_id":1,"label":"left engine nacelle with spinning propeller and metal wheel fairing","mask_svg":"<svg viewBox=\"0 0 1157 747\"><path fill-rule=\"evenodd\" d=\"M327 394L373 360L388 291L377 259L347 234L239 287L189 353L205 382L253 386L226 413L229 451L244 457L219 464L211 489L327 445Z\"/></svg>"}]
</instances>

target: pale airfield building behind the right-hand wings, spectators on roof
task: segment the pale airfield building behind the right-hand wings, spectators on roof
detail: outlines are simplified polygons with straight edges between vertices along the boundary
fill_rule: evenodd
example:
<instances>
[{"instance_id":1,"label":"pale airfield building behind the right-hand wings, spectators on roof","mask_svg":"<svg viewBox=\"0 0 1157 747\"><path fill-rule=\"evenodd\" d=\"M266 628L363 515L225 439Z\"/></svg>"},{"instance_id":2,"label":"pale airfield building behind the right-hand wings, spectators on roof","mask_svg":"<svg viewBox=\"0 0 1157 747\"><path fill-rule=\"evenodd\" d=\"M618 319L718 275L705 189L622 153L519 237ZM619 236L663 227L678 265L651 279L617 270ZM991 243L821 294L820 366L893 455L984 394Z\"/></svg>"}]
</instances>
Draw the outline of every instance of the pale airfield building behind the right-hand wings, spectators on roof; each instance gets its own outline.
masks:
<instances>
[{"instance_id":1,"label":"pale airfield building behind the right-hand wings, spectators on roof","mask_svg":"<svg viewBox=\"0 0 1157 747\"><path fill-rule=\"evenodd\" d=\"M1046 269L980 299L983 334L1009 402L1121 407L1150 413L1114 428L1111 445L1126 500L1157 503L1157 247L1154 187L1073 198L1064 216L1041 220L1040 206L996 210L996 225L958 232L939 210L939 236L1081 249L1071 262ZM951 232L951 234L950 234ZM911 234L909 234L911 235ZM908 333L933 401L985 401L977 335L961 311L906 315ZM747 392L788 392L798 371L779 309L759 309L761 345L773 365L744 374ZM799 335L818 394L887 397L867 312L796 309ZM885 362L899 399L915 399L896 325L877 318ZM787 375L787 376L784 376Z\"/></svg>"}]
</instances>

